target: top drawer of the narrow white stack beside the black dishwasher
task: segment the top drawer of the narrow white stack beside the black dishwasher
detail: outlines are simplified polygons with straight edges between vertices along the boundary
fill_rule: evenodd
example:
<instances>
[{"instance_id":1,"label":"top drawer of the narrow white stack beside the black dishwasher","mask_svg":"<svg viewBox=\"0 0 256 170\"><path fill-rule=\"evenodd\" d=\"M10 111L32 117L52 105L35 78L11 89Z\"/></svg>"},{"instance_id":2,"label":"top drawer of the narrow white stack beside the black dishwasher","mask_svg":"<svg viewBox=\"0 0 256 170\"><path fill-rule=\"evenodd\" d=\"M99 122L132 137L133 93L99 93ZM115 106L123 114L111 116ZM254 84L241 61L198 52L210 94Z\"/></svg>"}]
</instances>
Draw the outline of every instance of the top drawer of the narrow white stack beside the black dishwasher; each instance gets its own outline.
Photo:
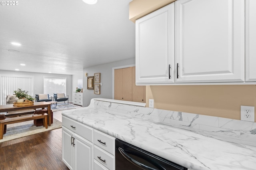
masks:
<instances>
[{"instance_id":1,"label":"top drawer of the narrow white stack beside the black dishwasher","mask_svg":"<svg viewBox=\"0 0 256 170\"><path fill-rule=\"evenodd\" d=\"M115 139L108 134L94 129L94 144L115 156Z\"/></svg>"}]
</instances>

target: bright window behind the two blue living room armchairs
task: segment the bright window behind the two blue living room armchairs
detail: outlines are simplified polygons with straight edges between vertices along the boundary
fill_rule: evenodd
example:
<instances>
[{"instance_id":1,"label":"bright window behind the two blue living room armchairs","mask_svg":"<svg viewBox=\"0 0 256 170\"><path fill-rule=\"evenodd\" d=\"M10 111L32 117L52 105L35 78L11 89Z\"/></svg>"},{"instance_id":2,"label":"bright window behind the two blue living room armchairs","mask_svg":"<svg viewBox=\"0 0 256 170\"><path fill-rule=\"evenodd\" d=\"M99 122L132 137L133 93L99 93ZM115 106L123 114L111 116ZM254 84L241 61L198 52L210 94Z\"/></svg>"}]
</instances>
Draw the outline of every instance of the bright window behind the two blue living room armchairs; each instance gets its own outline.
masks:
<instances>
[{"instance_id":1,"label":"bright window behind the two blue living room armchairs","mask_svg":"<svg viewBox=\"0 0 256 170\"><path fill-rule=\"evenodd\" d=\"M66 77L44 77L44 94L66 94Z\"/></svg>"}]
</instances>

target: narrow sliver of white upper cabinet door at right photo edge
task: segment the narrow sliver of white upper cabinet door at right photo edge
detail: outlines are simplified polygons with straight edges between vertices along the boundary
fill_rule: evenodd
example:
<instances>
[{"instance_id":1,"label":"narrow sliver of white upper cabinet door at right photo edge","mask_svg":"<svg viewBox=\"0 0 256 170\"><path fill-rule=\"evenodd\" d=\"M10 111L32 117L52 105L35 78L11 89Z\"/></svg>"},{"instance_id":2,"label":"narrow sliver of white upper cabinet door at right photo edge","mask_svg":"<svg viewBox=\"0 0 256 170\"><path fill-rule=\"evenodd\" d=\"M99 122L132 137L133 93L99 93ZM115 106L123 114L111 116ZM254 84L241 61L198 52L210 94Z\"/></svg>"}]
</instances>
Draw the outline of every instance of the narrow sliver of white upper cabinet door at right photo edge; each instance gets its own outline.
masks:
<instances>
[{"instance_id":1,"label":"narrow sliver of white upper cabinet door at right photo edge","mask_svg":"<svg viewBox=\"0 0 256 170\"><path fill-rule=\"evenodd\" d=\"M246 81L256 81L256 0L246 0Z\"/></svg>"}]
</instances>

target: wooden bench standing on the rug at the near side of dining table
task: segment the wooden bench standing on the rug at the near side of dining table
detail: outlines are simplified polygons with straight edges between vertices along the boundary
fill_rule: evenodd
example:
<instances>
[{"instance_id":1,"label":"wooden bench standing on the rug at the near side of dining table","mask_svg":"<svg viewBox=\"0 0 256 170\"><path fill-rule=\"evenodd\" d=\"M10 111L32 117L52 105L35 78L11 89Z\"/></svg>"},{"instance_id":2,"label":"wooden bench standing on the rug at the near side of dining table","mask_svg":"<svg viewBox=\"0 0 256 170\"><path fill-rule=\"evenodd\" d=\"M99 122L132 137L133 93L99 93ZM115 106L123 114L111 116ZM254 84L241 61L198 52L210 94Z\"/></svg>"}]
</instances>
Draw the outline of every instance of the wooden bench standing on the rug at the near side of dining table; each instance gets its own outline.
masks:
<instances>
[{"instance_id":1,"label":"wooden bench standing on the rug at the near side of dining table","mask_svg":"<svg viewBox=\"0 0 256 170\"><path fill-rule=\"evenodd\" d=\"M36 119L43 119L45 128L48 128L48 114L47 113L42 113L42 114L38 114L38 115L26 115L26 116L20 116L20 117L11 117L11 118L6 118L3 120L0 120L0 139L3 139L3 137L4 137L4 125L25 122L25 121L31 121L31 120L36 120Z\"/></svg>"}]
</instances>

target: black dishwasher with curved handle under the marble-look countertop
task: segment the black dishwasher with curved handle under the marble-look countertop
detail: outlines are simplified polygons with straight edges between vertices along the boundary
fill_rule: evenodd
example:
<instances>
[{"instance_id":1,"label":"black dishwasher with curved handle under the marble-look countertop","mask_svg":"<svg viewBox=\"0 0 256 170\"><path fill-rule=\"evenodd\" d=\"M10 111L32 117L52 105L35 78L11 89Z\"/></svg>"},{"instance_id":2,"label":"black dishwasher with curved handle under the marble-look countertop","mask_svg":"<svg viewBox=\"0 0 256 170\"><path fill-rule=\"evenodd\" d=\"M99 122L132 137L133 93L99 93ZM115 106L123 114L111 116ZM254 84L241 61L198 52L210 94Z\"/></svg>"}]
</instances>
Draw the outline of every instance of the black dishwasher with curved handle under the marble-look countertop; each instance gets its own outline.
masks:
<instances>
[{"instance_id":1,"label":"black dishwasher with curved handle under the marble-look countertop","mask_svg":"<svg viewBox=\"0 0 256 170\"><path fill-rule=\"evenodd\" d=\"M116 170L188 170L146 150L116 139Z\"/></svg>"}]
</instances>

